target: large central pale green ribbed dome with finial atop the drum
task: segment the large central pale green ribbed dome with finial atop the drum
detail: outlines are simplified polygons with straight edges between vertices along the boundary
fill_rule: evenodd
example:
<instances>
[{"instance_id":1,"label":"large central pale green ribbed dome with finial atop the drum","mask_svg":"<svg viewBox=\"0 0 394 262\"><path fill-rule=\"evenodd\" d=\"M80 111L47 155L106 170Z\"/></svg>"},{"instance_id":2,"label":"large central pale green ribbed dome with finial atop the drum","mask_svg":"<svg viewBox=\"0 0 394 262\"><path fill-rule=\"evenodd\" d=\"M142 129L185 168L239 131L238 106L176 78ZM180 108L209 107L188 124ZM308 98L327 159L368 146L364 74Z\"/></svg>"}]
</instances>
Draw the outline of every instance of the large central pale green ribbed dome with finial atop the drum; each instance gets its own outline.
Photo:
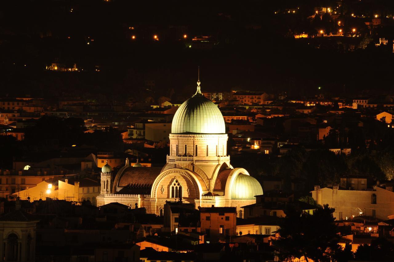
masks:
<instances>
[{"instance_id":1,"label":"large central pale green ribbed dome with finial atop the drum","mask_svg":"<svg viewBox=\"0 0 394 262\"><path fill-rule=\"evenodd\" d=\"M223 115L217 105L205 98L197 82L197 92L184 101L174 115L173 134L223 134L226 133Z\"/></svg>"}]
</instances>

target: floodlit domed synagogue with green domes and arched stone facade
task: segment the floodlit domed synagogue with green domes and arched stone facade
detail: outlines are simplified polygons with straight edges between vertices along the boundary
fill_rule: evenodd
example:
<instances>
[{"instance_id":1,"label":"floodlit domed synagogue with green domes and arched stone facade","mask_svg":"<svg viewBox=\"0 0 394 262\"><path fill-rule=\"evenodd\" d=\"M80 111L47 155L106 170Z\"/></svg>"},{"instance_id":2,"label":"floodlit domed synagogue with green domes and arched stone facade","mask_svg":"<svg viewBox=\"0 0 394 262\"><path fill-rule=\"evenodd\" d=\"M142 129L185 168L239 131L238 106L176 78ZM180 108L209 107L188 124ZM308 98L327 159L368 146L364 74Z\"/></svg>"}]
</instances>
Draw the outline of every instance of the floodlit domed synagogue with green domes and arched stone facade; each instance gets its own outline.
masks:
<instances>
[{"instance_id":1,"label":"floodlit domed synagogue with green domes and arched stone facade","mask_svg":"<svg viewBox=\"0 0 394 262\"><path fill-rule=\"evenodd\" d=\"M163 168L130 166L128 159L116 174L103 166L97 205L118 202L163 214L165 201L194 203L195 207L240 207L256 203L260 183L243 168L232 168L227 133L219 108L197 92L174 115L170 154Z\"/></svg>"}]
</instances>

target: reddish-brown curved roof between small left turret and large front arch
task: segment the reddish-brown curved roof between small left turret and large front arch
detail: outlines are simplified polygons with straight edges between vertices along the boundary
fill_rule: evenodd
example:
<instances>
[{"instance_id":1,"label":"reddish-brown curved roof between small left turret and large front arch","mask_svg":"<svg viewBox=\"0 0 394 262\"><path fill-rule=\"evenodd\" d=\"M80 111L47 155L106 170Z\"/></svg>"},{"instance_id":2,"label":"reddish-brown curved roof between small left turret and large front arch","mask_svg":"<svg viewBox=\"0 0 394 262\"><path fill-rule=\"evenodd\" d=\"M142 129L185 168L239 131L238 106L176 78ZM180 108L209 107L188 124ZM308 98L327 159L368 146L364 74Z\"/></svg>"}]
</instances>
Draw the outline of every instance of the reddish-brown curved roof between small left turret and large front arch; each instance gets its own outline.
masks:
<instances>
[{"instance_id":1,"label":"reddish-brown curved roof between small left turret and large front arch","mask_svg":"<svg viewBox=\"0 0 394 262\"><path fill-rule=\"evenodd\" d=\"M129 188L151 188L162 168L128 167L119 179L117 186Z\"/></svg>"}]
</instances>

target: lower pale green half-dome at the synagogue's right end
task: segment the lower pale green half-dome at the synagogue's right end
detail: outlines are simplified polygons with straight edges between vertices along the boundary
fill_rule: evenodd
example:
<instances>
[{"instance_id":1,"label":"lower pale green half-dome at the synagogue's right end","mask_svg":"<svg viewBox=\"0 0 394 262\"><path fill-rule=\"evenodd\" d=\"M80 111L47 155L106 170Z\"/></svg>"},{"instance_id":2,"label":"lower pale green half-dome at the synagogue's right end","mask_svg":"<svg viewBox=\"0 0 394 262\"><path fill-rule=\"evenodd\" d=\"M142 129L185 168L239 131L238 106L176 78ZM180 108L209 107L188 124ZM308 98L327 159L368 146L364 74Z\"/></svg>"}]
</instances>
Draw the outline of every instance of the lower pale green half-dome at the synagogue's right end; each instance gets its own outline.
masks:
<instances>
[{"instance_id":1,"label":"lower pale green half-dome at the synagogue's right end","mask_svg":"<svg viewBox=\"0 0 394 262\"><path fill-rule=\"evenodd\" d=\"M232 199L255 199L255 196L262 194L260 183L250 175L239 174L232 185Z\"/></svg>"}]
</instances>

